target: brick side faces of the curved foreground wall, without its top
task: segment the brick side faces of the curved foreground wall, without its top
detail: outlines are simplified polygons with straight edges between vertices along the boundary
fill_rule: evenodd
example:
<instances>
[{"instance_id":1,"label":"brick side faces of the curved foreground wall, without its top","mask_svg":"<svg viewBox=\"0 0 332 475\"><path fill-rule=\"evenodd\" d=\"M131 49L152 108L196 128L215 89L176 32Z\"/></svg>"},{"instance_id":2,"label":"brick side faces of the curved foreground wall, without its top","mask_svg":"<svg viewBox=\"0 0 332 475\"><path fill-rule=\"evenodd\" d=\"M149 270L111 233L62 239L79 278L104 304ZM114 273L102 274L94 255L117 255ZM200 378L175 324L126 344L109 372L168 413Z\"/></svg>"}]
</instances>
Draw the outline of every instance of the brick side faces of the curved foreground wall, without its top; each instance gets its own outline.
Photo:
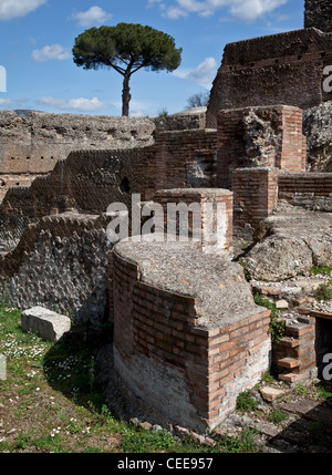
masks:
<instances>
[{"instance_id":1,"label":"brick side faces of the curved foreground wall, without its top","mask_svg":"<svg viewBox=\"0 0 332 475\"><path fill-rule=\"evenodd\" d=\"M116 247L112 256L117 385L149 419L214 428L269 365L270 312L199 328L195 297L142 281Z\"/></svg>"}]
</instances>

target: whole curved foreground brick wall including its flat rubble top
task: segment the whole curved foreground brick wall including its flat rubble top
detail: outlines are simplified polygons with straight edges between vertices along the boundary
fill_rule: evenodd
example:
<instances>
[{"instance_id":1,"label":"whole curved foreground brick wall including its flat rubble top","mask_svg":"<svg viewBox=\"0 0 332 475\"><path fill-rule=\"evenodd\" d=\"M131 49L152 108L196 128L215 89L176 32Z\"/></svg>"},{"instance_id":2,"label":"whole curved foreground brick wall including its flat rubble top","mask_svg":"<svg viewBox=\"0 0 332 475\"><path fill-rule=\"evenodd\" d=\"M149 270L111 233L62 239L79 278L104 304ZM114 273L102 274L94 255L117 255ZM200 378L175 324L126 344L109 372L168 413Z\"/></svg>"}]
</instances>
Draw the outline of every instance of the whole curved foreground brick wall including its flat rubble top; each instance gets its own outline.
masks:
<instances>
[{"instance_id":1,"label":"whole curved foreground brick wall including its flat rubble top","mask_svg":"<svg viewBox=\"0 0 332 475\"><path fill-rule=\"evenodd\" d=\"M120 242L112 261L118 388L152 421L214 428L269 366L270 312L190 244Z\"/></svg>"}]
</instances>

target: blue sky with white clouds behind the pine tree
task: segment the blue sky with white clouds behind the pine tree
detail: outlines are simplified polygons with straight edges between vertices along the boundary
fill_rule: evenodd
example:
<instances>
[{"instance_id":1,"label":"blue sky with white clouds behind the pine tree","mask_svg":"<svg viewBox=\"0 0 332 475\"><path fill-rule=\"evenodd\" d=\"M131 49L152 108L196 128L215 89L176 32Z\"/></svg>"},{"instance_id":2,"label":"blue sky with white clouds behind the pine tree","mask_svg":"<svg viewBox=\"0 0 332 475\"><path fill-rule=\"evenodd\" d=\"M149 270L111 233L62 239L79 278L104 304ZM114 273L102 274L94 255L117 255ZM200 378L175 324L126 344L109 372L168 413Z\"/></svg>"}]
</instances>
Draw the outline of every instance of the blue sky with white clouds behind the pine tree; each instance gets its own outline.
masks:
<instances>
[{"instance_id":1,"label":"blue sky with white clouds behind the pine tree","mask_svg":"<svg viewBox=\"0 0 332 475\"><path fill-rule=\"evenodd\" d=\"M303 28L304 0L0 0L0 110L120 116L122 75L73 62L90 28L141 23L181 48L173 72L139 70L131 116L188 107L211 87L227 43Z\"/></svg>"}]
</instances>

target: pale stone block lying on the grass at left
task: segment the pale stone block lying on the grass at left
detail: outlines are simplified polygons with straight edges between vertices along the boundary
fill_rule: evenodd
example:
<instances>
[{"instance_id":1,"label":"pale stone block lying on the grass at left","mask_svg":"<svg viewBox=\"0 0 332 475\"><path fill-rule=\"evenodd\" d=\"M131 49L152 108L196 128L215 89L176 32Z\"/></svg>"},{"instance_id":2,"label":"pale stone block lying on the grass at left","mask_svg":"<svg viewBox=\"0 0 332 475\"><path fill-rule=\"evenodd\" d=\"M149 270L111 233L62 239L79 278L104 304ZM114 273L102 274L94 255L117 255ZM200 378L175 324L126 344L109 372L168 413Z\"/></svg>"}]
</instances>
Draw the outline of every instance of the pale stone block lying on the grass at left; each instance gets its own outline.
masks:
<instances>
[{"instance_id":1,"label":"pale stone block lying on the grass at left","mask_svg":"<svg viewBox=\"0 0 332 475\"><path fill-rule=\"evenodd\" d=\"M43 340L58 341L71 329L71 319L43 307L33 307L21 314L21 328L38 333Z\"/></svg>"}]
</instances>

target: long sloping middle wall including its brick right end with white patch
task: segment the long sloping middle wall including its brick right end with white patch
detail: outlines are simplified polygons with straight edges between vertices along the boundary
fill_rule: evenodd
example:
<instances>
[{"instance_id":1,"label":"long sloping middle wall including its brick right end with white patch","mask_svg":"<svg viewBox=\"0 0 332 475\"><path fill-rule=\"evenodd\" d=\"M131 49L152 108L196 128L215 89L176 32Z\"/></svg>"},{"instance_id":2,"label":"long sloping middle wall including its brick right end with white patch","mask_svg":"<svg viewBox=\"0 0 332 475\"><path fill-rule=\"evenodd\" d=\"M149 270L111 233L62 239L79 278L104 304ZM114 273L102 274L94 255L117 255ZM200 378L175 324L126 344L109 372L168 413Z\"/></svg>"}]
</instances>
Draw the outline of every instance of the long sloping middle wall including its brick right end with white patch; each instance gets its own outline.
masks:
<instances>
[{"instance_id":1,"label":"long sloping middle wall including its brick right end with white patch","mask_svg":"<svg viewBox=\"0 0 332 475\"><path fill-rule=\"evenodd\" d=\"M144 200L165 185L199 187L215 183L216 131L164 132L146 147L72 152L30 187L10 188L2 214L40 217L72 209L100 214L114 202L131 207L132 194L141 194Z\"/></svg>"}]
</instances>

